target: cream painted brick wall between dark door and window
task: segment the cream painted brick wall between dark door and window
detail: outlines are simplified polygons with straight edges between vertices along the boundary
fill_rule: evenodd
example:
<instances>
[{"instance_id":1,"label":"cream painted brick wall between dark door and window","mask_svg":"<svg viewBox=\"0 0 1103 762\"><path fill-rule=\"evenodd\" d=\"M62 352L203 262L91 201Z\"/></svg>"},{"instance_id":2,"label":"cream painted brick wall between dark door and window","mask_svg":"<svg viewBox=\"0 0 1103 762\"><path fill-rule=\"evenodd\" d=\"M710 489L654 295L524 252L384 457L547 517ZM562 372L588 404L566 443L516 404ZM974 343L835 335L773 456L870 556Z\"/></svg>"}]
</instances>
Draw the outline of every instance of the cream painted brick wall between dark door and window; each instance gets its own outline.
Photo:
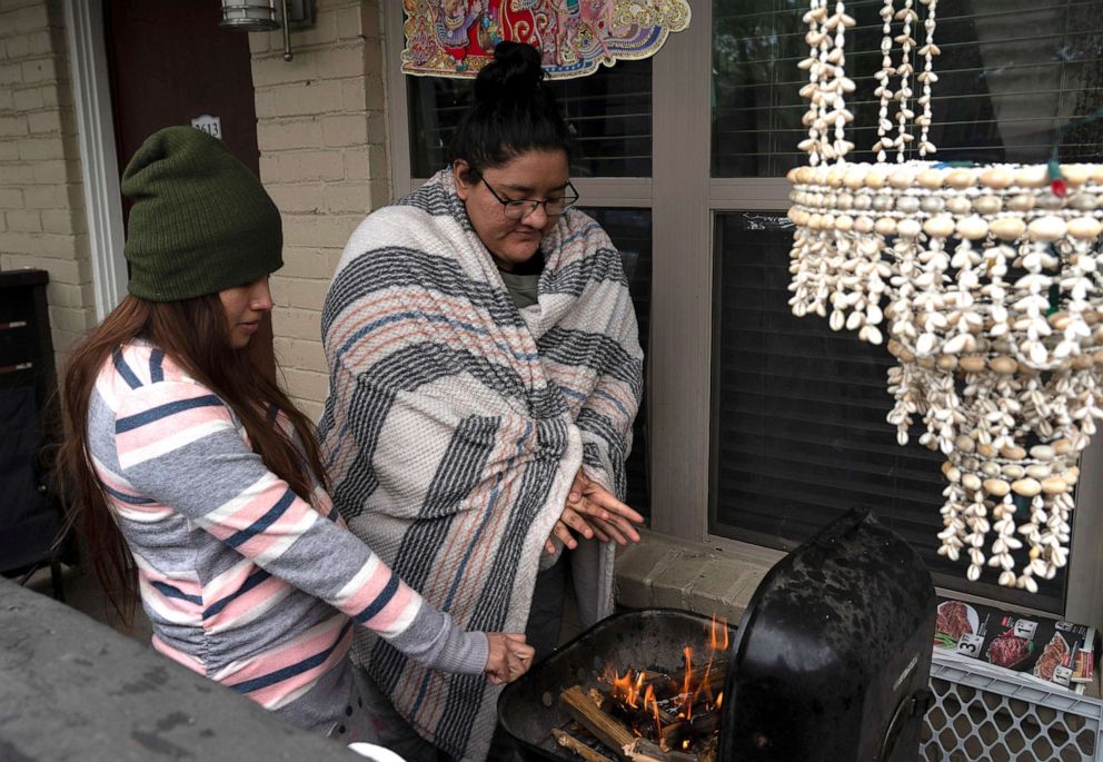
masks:
<instances>
[{"instance_id":1,"label":"cream painted brick wall between dark door and window","mask_svg":"<svg viewBox=\"0 0 1103 762\"><path fill-rule=\"evenodd\" d=\"M316 420L328 374L321 306L341 249L389 200L378 0L318 0L311 29L249 36L260 179L284 217L272 278L276 354L288 392Z\"/></svg>"}]
</instances>

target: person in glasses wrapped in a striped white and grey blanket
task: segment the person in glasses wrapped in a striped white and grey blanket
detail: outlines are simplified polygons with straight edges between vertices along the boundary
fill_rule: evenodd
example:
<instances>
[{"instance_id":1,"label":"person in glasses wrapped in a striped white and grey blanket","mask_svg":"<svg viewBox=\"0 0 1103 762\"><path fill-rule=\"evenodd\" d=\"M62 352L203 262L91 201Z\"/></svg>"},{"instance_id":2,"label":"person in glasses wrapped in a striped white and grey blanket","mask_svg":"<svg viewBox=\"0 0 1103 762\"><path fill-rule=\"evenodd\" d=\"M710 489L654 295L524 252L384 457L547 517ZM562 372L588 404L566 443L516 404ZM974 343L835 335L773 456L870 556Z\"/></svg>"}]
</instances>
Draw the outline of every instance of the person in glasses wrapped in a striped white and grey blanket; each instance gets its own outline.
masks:
<instances>
[{"instance_id":1,"label":"person in glasses wrapped in a striped white and grey blanket","mask_svg":"<svg viewBox=\"0 0 1103 762\"><path fill-rule=\"evenodd\" d=\"M584 623L613 608L618 498L643 388L620 256L568 208L569 131L539 53L501 42L454 161L350 237L322 313L319 425L334 501L429 602L557 644L569 565ZM567 548L567 558L560 560ZM408 760L483 760L497 691L357 635L361 693ZM396 723L388 723L388 728ZM416 732L415 732L416 731Z\"/></svg>"}]
</instances>

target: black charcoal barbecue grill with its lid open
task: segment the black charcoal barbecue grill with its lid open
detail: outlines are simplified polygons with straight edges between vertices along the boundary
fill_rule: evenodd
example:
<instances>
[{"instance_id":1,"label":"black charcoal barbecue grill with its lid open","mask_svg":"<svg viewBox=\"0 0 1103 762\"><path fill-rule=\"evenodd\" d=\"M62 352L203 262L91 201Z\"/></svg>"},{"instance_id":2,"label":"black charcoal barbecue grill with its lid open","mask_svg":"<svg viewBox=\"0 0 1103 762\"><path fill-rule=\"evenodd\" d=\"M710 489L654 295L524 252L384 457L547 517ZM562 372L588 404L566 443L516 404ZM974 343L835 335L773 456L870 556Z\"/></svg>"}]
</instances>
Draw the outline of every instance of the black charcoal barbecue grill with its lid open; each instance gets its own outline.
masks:
<instances>
[{"instance_id":1,"label":"black charcoal barbecue grill with its lid open","mask_svg":"<svg viewBox=\"0 0 1103 762\"><path fill-rule=\"evenodd\" d=\"M931 694L935 594L918 555L867 511L852 511L766 575L733 643L721 761L913 762ZM676 610L610 616L507 686L503 729L526 760L570 760L559 696L599 685L609 663L680 669L706 650L708 617ZM615 759L614 750L603 753Z\"/></svg>"}]
</instances>

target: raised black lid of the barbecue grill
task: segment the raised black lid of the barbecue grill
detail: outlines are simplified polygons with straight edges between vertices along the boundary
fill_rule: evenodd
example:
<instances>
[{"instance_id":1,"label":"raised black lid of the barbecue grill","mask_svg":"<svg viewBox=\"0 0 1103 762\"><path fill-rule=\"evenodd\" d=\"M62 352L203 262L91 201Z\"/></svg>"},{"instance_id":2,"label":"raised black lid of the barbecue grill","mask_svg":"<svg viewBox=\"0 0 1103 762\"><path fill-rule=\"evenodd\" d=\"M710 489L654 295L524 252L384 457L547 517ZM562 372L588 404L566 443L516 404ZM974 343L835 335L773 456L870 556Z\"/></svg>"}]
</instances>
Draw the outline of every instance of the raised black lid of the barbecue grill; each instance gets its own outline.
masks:
<instances>
[{"instance_id":1,"label":"raised black lid of the barbecue grill","mask_svg":"<svg viewBox=\"0 0 1103 762\"><path fill-rule=\"evenodd\" d=\"M934 636L931 574L852 511L775 565L732 649L721 760L914 761Z\"/></svg>"}]
</instances>

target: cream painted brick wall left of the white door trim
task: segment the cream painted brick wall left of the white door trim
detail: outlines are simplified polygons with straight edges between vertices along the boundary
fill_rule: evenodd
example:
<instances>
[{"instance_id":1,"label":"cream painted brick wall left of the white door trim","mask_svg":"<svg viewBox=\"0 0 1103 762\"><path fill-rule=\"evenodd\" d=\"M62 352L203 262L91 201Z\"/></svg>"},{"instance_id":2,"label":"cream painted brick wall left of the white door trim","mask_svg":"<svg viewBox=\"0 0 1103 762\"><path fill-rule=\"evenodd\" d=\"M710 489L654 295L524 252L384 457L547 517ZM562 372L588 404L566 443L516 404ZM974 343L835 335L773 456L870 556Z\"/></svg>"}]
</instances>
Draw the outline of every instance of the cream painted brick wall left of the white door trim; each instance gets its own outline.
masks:
<instances>
[{"instance_id":1,"label":"cream painted brick wall left of the white door trim","mask_svg":"<svg viewBox=\"0 0 1103 762\"><path fill-rule=\"evenodd\" d=\"M58 358L96 321L61 0L0 0L0 269L50 274Z\"/></svg>"}]
</instances>

